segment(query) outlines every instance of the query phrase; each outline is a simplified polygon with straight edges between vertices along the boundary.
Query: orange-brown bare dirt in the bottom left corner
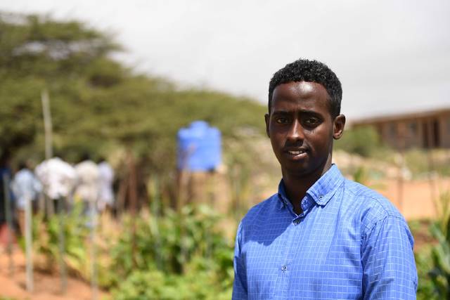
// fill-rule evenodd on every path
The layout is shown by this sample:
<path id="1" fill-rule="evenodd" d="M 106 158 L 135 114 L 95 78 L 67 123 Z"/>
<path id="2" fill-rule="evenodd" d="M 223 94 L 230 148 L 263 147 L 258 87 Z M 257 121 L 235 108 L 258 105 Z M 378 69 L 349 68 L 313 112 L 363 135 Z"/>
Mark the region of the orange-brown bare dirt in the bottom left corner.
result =
<path id="1" fill-rule="evenodd" d="M 60 279 L 58 274 L 34 272 L 34 291 L 27 292 L 25 285 L 25 256 L 15 247 L 13 250 L 14 271 L 10 273 L 9 259 L 6 252 L 0 249 L 0 296 L 12 299 L 35 300 L 91 300 L 91 287 L 89 283 L 79 279 L 69 278 L 68 289 L 65 294 L 60 293 Z M 107 296 L 99 293 L 98 299 Z"/>

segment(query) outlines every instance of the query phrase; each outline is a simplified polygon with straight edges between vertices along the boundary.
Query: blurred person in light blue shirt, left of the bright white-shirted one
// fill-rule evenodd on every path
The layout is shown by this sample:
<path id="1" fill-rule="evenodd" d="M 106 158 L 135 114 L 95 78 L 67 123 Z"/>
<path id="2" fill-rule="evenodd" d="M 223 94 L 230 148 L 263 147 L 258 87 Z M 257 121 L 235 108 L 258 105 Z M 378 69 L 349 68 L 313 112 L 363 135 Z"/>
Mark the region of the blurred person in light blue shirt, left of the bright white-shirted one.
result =
<path id="1" fill-rule="evenodd" d="M 27 162 L 20 162 L 19 171 L 14 175 L 11 182 L 11 188 L 15 196 L 15 208 L 18 213 L 18 222 L 20 231 L 23 234 L 25 231 L 25 205 L 27 201 L 31 201 L 32 210 L 36 209 L 36 203 L 39 194 L 42 191 L 42 185 L 30 170 L 30 164 Z"/>

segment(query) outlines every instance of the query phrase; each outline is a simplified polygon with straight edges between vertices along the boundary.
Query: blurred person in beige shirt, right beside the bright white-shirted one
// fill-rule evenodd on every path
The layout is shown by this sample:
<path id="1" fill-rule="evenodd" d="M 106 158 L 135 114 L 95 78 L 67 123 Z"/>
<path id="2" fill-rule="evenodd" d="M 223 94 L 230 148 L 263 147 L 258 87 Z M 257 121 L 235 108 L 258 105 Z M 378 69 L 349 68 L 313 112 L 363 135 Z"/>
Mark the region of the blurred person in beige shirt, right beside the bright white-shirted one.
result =
<path id="1" fill-rule="evenodd" d="M 98 166 L 93 162 L 88 153 L 82 155 L 81 161 L 75 165 L 77 173 L 77 185 L 75 197 L 82 200 L 84 214 L 94 216 L 98 200 Z"/>

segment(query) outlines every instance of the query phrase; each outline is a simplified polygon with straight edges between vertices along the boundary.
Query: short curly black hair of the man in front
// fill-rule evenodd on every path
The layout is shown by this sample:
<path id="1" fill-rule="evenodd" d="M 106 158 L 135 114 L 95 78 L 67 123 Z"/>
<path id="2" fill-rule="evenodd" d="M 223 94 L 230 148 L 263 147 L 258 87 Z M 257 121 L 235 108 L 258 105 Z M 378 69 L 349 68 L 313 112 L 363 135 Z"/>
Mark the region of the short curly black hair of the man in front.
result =
<path id="1" fill-rule="evenodd" d="M 336 74 L 324 63 L 317 60 L 300 58 L 278 70 L 269 84 L 269 112 L 274 90 L 280 84 L 288 82 L 307 81 L 321 84 L 330 96 L 330 115 L 335 118 L 340 114 L 342 100 L 342 86 Z"/>

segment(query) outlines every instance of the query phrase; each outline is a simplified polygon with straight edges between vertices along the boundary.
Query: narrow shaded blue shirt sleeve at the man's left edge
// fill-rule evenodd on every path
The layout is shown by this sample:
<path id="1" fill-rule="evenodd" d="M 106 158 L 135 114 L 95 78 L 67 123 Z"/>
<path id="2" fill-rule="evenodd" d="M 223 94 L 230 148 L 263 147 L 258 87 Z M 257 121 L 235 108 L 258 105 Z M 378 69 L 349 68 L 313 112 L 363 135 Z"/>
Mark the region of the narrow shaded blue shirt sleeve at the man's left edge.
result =
<path id="1" fill-rule="evenodd" d="M 247 273 L 245 271 L 245 263 L 243 262 L 241 253 L 242 240 L 242 223 L 239 224 L 236 233 L 236 242 L 234 246 L 234 282 L 233 282 L 233 300 L 248 299 L 247 294 Z"/>

